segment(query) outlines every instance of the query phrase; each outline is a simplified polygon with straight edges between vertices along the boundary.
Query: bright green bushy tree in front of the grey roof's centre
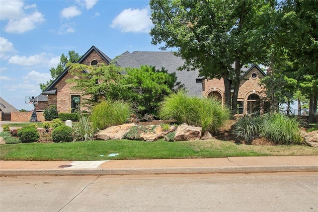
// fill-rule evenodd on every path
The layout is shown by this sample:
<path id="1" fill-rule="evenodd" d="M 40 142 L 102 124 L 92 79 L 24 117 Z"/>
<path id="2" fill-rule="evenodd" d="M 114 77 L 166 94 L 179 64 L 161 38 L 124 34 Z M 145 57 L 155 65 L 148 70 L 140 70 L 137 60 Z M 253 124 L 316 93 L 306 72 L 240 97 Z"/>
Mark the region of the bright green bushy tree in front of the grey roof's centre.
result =
<path id="1" fill-rule="evenodd" d="M 168 73 L 163 68 L 156 70 L 155 67 L 141 66 L 126 68 L 125 71 L 127 75 L 122 78 L 121 84 L 131 86 L 117 89 L 117 92 L 113 92 L 112 98 L 134 103 L 141 115 L 157 116 L 162 98 L 182 87 L 180 82 L 177 82 L 176 74 Z"/>

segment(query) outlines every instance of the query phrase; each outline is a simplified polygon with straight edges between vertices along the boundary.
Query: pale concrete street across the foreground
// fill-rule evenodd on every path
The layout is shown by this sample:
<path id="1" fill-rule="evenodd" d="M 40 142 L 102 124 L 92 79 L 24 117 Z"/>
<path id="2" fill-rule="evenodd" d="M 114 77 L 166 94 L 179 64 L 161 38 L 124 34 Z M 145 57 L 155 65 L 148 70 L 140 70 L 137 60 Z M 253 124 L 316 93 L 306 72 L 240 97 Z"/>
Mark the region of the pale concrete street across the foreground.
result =
<path id="1" fill-rule="evenodd" d="M 1 176 L 1 212 L 317 212 L 318 172 Z"/>

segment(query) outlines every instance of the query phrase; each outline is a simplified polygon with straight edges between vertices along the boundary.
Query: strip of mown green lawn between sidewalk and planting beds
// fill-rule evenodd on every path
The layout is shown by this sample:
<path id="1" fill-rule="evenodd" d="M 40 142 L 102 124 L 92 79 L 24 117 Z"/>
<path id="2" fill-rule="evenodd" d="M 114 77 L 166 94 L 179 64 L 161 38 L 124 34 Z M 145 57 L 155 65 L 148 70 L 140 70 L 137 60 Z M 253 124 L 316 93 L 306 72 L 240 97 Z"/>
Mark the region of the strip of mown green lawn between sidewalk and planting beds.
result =
<path id="1" fill-rule="evenodd" d="M 110 153 L 119 153 L 119 155 L 108 157 Z M 318 148 L 305 145 L 245 145 L 219 140 L 177 142 L 110 140 L 0 145 L 1 160 L 113 160 L 283 155 L 318 155 Z"/>

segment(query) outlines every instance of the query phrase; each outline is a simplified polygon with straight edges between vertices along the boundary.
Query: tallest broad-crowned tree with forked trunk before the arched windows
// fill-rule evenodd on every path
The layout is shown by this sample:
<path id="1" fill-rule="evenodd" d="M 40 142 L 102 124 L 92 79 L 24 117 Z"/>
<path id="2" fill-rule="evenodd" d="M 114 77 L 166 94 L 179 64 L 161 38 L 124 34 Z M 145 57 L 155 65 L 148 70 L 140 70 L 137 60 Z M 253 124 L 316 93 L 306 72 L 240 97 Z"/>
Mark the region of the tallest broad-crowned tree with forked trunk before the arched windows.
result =
<path id="1" fill-rule="evenodd" d="M 223 78 L 225 101 L 235 113 L 242 66 L 260 63 L 267 43 L 263 33 L 275 0 L 151 0 L 150 34 L 161 49 L 177 47 L 182 69 Z M 235 66 L 233 67 L 233 63 Z M 234 93 L 231 99 L 231 86 Z M 232 101 L 231 101 L 232 100 Z M 232 102 L 232 105 L 231 105 Z"/>

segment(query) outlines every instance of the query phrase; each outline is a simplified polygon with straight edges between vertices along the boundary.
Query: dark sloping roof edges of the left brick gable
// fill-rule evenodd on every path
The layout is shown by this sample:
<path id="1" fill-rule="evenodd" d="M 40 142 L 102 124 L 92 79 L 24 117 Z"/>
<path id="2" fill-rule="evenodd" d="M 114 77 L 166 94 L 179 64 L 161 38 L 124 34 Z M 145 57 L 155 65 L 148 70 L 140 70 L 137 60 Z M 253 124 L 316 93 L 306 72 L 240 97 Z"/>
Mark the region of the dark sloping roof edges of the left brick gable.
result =
<path id="1" fill-rule="evenodd" d="M 106 56 L 102 51 L 97 49 L 95 46 L 90 47 L 90 49 L 79 59 L 78 63 L 82 63 L 85 61 L 85 59 L 93 52 L 96 51 L 100 57 L 106 61 L 108 64 L 111 62 L 111 59 Z M 55 86 L 56 84 L 63 79 L 63 77 L 68 73 L 69 69 L 65 69 L 43 92 L 42 94 L 55 94 L 56 89 Z"/>

